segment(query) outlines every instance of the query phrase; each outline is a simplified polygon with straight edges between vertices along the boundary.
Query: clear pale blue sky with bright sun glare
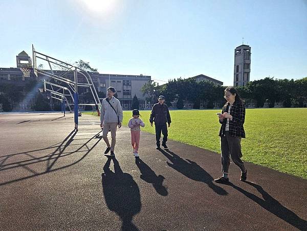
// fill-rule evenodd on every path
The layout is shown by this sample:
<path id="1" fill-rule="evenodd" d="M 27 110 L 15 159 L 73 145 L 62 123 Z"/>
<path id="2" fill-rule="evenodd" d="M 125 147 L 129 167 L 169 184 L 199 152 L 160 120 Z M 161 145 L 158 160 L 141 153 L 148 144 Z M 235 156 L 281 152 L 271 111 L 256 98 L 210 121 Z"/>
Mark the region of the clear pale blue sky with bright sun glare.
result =
<path id="1" fill-rule="evenodd" d="M 100 73 L 151 75 L 161 84 L 205 74 L 228 86 L 244 37 L 251 81 L 307 76 L 307 0 L 0 0 L 0 9 L 0 67 L 15 67 L 34 44 Z"/>

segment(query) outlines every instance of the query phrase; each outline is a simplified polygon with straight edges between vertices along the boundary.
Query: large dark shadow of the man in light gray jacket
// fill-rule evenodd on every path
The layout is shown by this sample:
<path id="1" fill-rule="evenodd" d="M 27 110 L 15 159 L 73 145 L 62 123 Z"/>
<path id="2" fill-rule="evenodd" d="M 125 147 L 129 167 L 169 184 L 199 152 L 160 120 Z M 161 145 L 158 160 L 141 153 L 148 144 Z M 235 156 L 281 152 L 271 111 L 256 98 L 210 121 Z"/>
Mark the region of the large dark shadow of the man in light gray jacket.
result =
<path id="1" fill-rule="evenodd" d="M 111 160 L 114 172 L 109 169 Z M 141 211 L 140 190 L 133 177 L 124 173 L 115 157 L 108 158 L 103 167 L 102 190 L 109 210 L 122 219 L 122 230 L 139 230 L 132 222 L 133 216 Z"/>

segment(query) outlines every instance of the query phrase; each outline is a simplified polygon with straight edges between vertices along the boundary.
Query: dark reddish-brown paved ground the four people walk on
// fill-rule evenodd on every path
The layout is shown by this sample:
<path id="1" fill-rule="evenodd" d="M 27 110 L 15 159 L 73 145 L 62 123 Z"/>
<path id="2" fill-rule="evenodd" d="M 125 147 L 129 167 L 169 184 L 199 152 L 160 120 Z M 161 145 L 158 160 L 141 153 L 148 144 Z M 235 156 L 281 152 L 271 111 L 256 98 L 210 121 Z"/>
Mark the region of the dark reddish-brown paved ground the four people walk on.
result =
<path id="1" fill-rule="evenodd" d="M 94 121 L 95 120 L 95 121 Z M 116 159 L 97 118 L 60 113 L 0 115 L 0 230 L 307 230 L 307 181 L 246 163 L 218 185 L 220 157 L 118 131 Z M 147 125 L 149 125 L 147 123 Z M 170 130 L 171 132 L 171 130 Z"/>

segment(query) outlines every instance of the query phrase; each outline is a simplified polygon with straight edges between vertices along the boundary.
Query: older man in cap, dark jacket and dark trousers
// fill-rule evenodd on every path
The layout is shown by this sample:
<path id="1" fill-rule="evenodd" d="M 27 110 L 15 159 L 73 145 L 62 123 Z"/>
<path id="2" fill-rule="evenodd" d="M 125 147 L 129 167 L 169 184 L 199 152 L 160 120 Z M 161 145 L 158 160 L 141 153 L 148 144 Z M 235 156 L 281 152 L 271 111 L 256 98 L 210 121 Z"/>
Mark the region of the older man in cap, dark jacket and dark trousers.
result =
<path id="1" fill-rule="evenodd" d="M 166 141 L 167 141 L 166 123 L 168 123 L 168 127 L 170 127 L 170 123 L 171 123 L 168 107 L 166 104 L 164 104 L 165 97 L 163 95 L 160 95 L 158 99 L 159 99 L 159 102 L 158 104 L 153 105 L 151 113 L 150 113 L 150 118 L 149 118 L 149 122 L 151 126 L 152 126 L 152 123 L 155 122 L 156 144 L 157 144 L 156 149 L 160 149 L 161 132 L 163 134 L 162 146 L 164 148 L 167 148 L 166 146 Z"/>

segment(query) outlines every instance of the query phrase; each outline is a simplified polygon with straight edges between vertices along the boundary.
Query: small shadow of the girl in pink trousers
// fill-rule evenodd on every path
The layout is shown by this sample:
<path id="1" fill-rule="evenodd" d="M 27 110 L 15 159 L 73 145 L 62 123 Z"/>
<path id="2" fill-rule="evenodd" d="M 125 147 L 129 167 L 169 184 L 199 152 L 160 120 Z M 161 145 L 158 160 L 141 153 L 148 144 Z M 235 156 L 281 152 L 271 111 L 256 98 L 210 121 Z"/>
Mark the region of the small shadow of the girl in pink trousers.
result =
<path id="1" fill-rule="evenodd" d="M 164 176 L 158 175 L 140 158 L 136 158 L 136 165 L 141 171 L 141 179 L 143 181 L 152 184 L 153 188 L 162 196 L 167 196 L 167 189 L 163 186 Z"/>

